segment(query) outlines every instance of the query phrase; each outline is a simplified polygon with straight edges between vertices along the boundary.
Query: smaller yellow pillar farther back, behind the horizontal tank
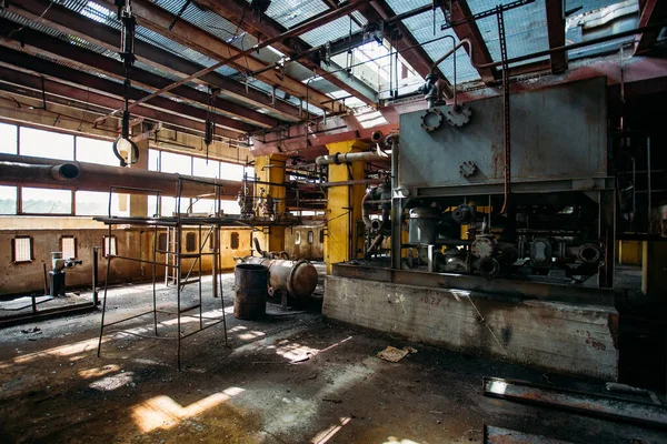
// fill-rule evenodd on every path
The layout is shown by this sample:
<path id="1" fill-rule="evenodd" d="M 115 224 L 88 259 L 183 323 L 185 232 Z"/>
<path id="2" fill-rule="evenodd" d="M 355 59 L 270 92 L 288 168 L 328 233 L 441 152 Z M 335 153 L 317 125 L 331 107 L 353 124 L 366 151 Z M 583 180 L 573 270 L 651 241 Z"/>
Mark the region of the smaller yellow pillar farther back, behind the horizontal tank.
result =
<path id="1" fill-rule="evenodd" d="M 257 175 L 260 183 L 257 184 L 256 195 L 260 195 L 260 189 L 265 189 L 265 198 L 270 195 L 277 202 L 276 204 L 276 219 L 282 218 L 286 211 L 285 206 L 285 162 L 287 161 L 286 155 L 281 154 L 268 154 L 259 155 L 255 158 L 255 175 Z M 263 233 L 256 233 L 256 238 L 259 239 L 259 243 L 266 251 L 282 251 L 285 250 L 285 228 L 271 226 L 265 229 Z"/>

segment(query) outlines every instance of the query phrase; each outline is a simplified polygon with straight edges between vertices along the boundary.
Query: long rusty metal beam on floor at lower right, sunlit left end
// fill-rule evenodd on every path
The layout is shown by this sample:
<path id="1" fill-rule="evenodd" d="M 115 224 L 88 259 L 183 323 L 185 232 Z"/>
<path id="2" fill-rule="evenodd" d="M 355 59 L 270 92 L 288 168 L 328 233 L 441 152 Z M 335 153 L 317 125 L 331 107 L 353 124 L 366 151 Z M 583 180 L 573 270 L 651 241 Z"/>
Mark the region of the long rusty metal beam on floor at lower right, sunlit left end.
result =
<path id="1" fill-rule="evenodd" d="M 485 396 L 546 405 L 654 427 L 667 427 L 667 408 L 661 405 L 500 377 L 482 377 L 482 389 Z"/>

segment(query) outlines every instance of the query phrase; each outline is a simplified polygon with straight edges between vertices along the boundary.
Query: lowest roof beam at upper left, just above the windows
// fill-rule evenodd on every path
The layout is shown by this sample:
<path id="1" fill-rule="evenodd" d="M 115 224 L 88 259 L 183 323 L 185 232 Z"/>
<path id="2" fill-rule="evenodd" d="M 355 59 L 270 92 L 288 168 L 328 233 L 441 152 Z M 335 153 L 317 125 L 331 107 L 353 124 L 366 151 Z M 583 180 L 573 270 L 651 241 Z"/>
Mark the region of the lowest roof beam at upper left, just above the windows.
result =
<path id="1" fill-rule="evenodd" d="M 6 59 L 3 59 L 6 60 Z M 47 62 L 49 63 L 49 62 Z M 60 67 L 63 70 L 69 70 L 68 68 L 64 67 Z M 88 79 L 88 77 L 94 77 L 94 75 L 90 75 L 90 74 L 84 74 L 81 73 L 79 71 L 76 70 L 71 70 L 74 73 L 78 74 L 83 74 L 81 78 L 79 78 L 79 80 L 83 80 L 83 81 L 90 81 L 90 79 Z M 67 104 L 68 102 L 72 102 L 72 101 L 77 101 L 77 102 L 81 102 L 81 103 L 91 103 L 94 104 L 97 107 L 101 107 L 101 108 L 106 108 L 106 109 L 115 109 L 116 107 L 122 107 L 123 104 L 123 100 L 119 97 L 113 97 L 113 95 L 107 95 L 100 92 L 96 92 L 96 91 L 91 91 L 91 90 L 86 90 L 86 89 L 80 89 L 77 88 L 76 84 L 77 83 L 61 83 L 59 81 L 54 81 L 51 79 L 43 79 L 39 75 L 33 75 L 30 74 L 26 71 L 19 71 L 19 70 L 14 70 L 14 69 L 10 69 L 10 68 L 6 68 L 6 67 L 0 67 L 0 79 L 2 79 L 2 82 L 0 83 L 0 89 L 4 90 L 4 91 L 9 91 L 9 92 L 14 92 L 14 93 L 20 93 L 27 97 L 40 97 L 39 94 L 41 94 L 42 92 L 44 94 L 53 94 L 53 95 L 58 95 L 62 99 L 64 99 L 63 104 Z M 43 83 L 42 83 L 43 80 Z M 94 88 L 96 90 L 98 88 L 101 88 L 102 84 L 104 83 L 115 83 L 111 81 L 104 81 L 103 79 L 99 79 L 101 82 L 99 84 L 96 84 Z M 81 83 L 78 83 L 81 84 Z M 122 90 L 122 84 L 119 83 L 115 83 L 119 89 Z M 20 87 L 19 89 L 17 89 L 14 85 Z M 104 84 L 106 87 L 110 87 L 110 84 Z M 42 89 L 43 87 L 43 89 Z M 23 88 L 30 89 L 32 90 L 32 93 L 30 91 L 26 91 L 23 90 Z M 117 91 L 113 91 L 117 92 Z M 163 99 L 163 100 L 169 100 L 169 99 Z M 62 102 L 62 101 L 61 101 Z M 173 102 L 176 104 L 178 104 L 177 102 Z M 77 108 L 77 107 L 74 107 Z M 188 108 L 192 108 L 192 107 L 188 107 Z M 137 115 L 137 117 L 142 117 L 149 120 L 152 120 L 155 122 L 165 122 L 165 123 L 169 123 L 169 124 L 173 124 L 177 127 L 181 127 L 181 128 L 186 128 L 186 129 L 192 129 L 192 130 L 197 130 L 200 132 L 205 131 L 205 123 L 201 120 L 193 120 L 190 118 L 186 118 L 185 115 L 188 114 L 181 114 L 181 113 L 175 113 L 175 111 L 179 110 L 178 108 L 173 108 L 170 109 L 170 111 L 172 112 L 165 112 L 160 109 L 155 109 L 155 108 L 150 108 L 150 107 L 137 107 L 135 108 L 135 110 L 132 110 L 132 114 Z M 205 112 L 205 110 L 201 110 Z M 230 131 L 227 129 L 223 129 L 221 127 L 217 128 L 217 132 L 218 135 L 222 135 L 226 138 L 231 138 L 231 139 L 237 139 L 240 134 L 239 132 L 235 132 L 235 131 Z"/>

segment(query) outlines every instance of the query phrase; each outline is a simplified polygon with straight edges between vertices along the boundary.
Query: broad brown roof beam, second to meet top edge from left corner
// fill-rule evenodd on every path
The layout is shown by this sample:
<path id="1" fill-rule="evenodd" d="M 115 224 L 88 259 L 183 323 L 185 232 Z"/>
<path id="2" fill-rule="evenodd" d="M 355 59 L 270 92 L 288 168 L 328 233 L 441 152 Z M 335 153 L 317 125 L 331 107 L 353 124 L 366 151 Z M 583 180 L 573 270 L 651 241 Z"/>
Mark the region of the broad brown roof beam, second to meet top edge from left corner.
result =
<path id="1" fill-rule="evenodd" d="M 112 0 L 92 0 L 98 4 L 101 4 L 108 9 L 113 10 L 115 4 Z M 241 51 L 233 44 L 229 44 L 218 37 L 207 32 L 193 24 L 190 24 L 183 19 L 176 20 L 177 17 L 171 12 L 158 7 L 146 0 L 132 0 L 132 14 L 137 18 L 138 24 L 148 28 L 159 34 L 176 41 L 185 47 L 192 48 L 195 51 L 210 57 L 217 61 L 223 61 L 231 57 L 237 56 Z M 171 23 L 175 23 L 170 28 Z M 232 68 L 238 71 L 259 71 L 269 65 L 263 61 L 256 59 L 252 56 L 246 56 L 242 60 L 230 63 Z M 306 98 L 306 85 L 289 75 L 278 77 L 278 72 L 269 71 L 257 75 L 261 81 L 276 85 L 281 90 L 290 93 L 297 98 Z M 310 91 L 309 97 L 312 99 L 311 104 L 317 105 L 328 111 L 335 111 L 335 103 L 328 102 L 329 97 L 319 92 Z M 321 102 L 328 102 L 320 104 Z"/>

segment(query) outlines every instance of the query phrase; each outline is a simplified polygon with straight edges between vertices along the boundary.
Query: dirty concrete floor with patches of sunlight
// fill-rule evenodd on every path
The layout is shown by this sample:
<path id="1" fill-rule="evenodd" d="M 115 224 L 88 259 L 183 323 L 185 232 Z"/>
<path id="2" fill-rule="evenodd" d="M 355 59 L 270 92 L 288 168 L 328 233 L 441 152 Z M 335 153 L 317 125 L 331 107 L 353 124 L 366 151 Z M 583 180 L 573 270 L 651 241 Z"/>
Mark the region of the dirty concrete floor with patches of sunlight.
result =
<path id="1" fill-rule="evenodd" d="M 229 347 L 221 325 L 191 336 L 180 373 L 171 341 L 110 334 L 98 359 L 99 313 L 2 330 L 0 442 L 470 443 L 481 441 L 482 424 L 571 443 L 667 442 L 664 432 L 481 395 L 484 375 L 600 383 L 406 344 L 317 312 L 269 305 L 276 315 L 236 320 L 232 282 L 223 276 Z M 149 285 L 115 289 L 110 316 L 146 310 L 151 294 Z M 160 290 L 158 301 L 173 305 L 172 291 Z M 207 296 L 205 307 L 219 313 L 220 301 Z M 418 353 L 388 363 L 376 356 L 387 345 Z"/>

